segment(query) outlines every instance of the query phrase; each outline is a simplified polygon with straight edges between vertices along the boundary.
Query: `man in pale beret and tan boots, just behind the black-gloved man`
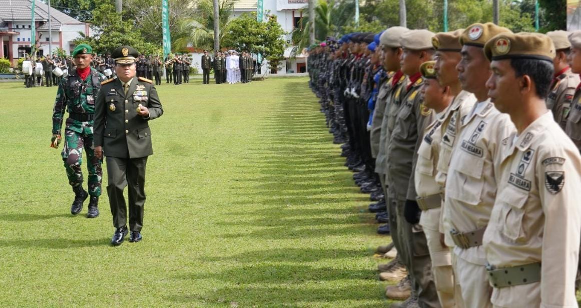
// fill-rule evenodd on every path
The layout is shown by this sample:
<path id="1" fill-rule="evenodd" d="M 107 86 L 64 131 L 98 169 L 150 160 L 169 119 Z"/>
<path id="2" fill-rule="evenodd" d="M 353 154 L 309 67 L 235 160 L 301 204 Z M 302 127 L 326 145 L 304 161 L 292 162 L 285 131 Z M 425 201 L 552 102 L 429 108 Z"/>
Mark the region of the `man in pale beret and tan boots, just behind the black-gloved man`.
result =
<path id="1" fill-rule="evenodd" d="M 401 95 L 401 91 L 406 88 L 407 84 L 407 77 L 401 71 L 400 65 L 400 56 L 403 53 L 403 49 L 401 48 L 401 34 L 405 33 L 409 29 L 406 27 L 391 27 L 385 30 L 379 37 L 379 46 L 382 48 L 383 51 L 383 68 L 386 71 L 392 71 L 393 76 L 383 83 L 381 87 L 379 87 L 379 92 L 377 96 L 377 102 L 375 107 L 375 112 L 379 113 L 380 116 L 383 114 L 383 120 L 381 120 L 381 129 L 379 132 L 375 131 L 375 134 L 379 133 L 379 147 L 377 152 L 377 157 L 375 159 L 375 172 L 379 174 L 379 179 L 381 181 L 381 185 L 385 194 L 385 203 L 381 205 L 380 203 L 376 203 L 375 205 L 370 205 L 371 211 L 378 211 L 385 209 L 388 213 L 389 223 L 385 225 L 381 225 L 378 228 L 378 233 L 388 233 L 391 232 L 392 234 L 397 234 L 397 230 L 399 226 L 397 225 L 397 214 L 396 214 L 396 206 L 397 202 L 394 198 L 394 194 L 389 192 L 388 190 L 388 179 L 386 175 L 388 173 L 387 169 L 387 149 L 388 149 L 388 142 L 391 136 L 391 132 L 393 131 L 393 127 L 395 124 L 395 116 L 397 114 L 397 109 L 399 109 L 400 102 L 399 98 Z M 343 44 L 346 45 L 346 44 Z M 383 105 L 383 110 L 382 106 Z M 374 113 L 375 117 L 375 113 Z M 374 121 L 378 119 L 375 117 Z M 372 128 L 372 132 L 370 137 L 374 134 L 374 129 Z M 397 252 L 403 251 L 402 245 L 403 243 L 400 242 L 399 238 L 396 236 L 392 236 L 392 241 L 394 244 L 395 249 Z M 390 291 L 394 293 L 399 293 L 399 296 L 394 296 L 397 298 L 406 299 L 410 296 L 411 293 L 411 284 L 410 280 L 407 277 L 408 272 L 406 267 L 403 264 L 402 256 L 398 255 L 392 262 L 388 264 L 379 264 L 378 270 L 381 272 L 379 277 L 382 280 L 392 280 L 392 281 L 400 281 L 399 285 L 397 285 L 397 289 Z M 388 289 L 390 287 L 388 286 Z M 386 289 L 387 292 L 387 289 Z M 397 294 L 392 294 L 397 295 Z"/>

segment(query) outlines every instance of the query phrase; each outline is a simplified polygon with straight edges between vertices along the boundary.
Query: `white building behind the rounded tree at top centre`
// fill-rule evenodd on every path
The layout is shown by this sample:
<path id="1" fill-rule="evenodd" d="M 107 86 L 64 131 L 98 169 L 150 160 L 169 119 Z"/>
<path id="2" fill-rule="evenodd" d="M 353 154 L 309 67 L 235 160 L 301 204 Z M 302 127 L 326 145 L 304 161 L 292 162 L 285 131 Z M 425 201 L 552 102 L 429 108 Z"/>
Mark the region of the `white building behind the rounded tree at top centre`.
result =
<path id="1" fill-rule="evenodd" d="M 270 71 L 271 74 L 304 73 L 306 71 L 306 58 L 303 54 L 297 55 L 295 59 L 290 58 L 292 51 L 292 41 L 290 33 L 299 26 L 299 20 L 303 17 L 302 9 L 306 8 L 308 0 L 263 0 L 264 13 L 276 15 L 277 22 L 282 30 L 288 33 L 285 37 L 287 47 L 285 49 L 285 60 L 281 63 L 281 69 Z M 256 12 L 257 0 L 238 0 L 234 4 L 234 17 L 244 13 Z M 270 12 L 269 12 L 270 11 Z M 262 72 L 268 70 L 268 62 L 264 61 Z"/>

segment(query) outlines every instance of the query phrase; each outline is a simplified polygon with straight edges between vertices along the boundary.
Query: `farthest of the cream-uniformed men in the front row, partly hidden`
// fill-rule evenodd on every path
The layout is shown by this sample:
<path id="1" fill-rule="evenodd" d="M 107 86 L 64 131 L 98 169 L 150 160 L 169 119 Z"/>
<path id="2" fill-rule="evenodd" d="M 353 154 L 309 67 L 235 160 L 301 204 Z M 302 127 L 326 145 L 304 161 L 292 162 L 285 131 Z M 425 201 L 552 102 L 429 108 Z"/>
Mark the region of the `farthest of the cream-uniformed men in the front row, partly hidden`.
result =
<path id="1" fill-rule="evenodd" d="M 454 34 L 439 33 L 440 41 L 446 44 L 445 38 L 453 38 Z M 449 35 L 449 36 L 448 36 Z M 451 40 L 454 42 L 454 40 Z M 458 40 L 453 44 L 457 47 Z M 436 182 L 437 161 L 442 139 L 442 121 L 448 106 L 454 99 L 449 86 L 442 87 L 436 80 L 435 61 L 424 62 L 420 67 L 424 85 L 421 94 L 424 97 L 424 106 L 435 112 L 432 123 L 428 124 L 421 134 L 421 145 L 418 149 L 418 160 L 415 165 L 415 190 L 418 194 L 417 202 L 422 214 L 419 225 L 422 226 L 432 260 L 432 275 L 436 284 L 436 291 L 442 307 L 455 307 L 454 278 L 450 249 L 440 243 L 440 211 L 442 199 L 440 186 Z"/>

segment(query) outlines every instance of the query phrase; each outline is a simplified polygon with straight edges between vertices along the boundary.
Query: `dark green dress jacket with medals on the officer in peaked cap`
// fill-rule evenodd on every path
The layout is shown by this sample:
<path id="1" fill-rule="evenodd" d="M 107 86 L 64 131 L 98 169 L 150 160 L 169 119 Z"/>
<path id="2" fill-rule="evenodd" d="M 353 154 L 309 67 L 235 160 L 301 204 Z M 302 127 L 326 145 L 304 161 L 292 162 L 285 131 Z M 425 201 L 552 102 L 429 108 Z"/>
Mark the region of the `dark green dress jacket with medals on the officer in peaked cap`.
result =
<path id="1" fill-rule="evenodd" d="M 139 104 L 149 109 L 147 119 L 137 114 Z M 127 96 L 119 79 L 103 81 L 96 100 L 95 146 L 103 146 L 103 153 L 111 157 L 152 155 L 148 122 L 162 114 L 162 103 L 150 80 L 134 77 Z"/>

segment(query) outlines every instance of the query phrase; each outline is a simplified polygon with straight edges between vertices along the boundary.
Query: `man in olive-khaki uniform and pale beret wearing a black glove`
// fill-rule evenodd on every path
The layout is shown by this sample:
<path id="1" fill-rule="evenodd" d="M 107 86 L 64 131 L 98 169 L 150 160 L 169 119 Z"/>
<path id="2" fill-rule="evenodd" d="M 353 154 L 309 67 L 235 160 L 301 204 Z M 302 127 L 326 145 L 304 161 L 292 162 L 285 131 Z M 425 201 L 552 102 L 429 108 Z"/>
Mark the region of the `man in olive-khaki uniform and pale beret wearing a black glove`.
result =
<path id="1" fill-rule="evenodd" d="M 397 237 L 401 250 L 397 253 L 406 265 L 411 278 L 411 296 L 401 306 L 417 305 L 437 307 L 436 288 L 430 273 L 431 259 L 426 237 L 419 223 L 419 207 L 414 184 L 414 168 L 422 138 L 419 136 L 432 120 L 419 88 L 422 85 L 419 66 L 433 55 L 432 38 L 428 30 L 410 30 L 401 34 L 401 71 L 409 79 L 401 89 L 400 106 L 389 142 L 387 144 L 387 185 L 390 198 L 396 202 Z M 389 289 L 386 292 L 388 295 Z M 389 295 L 388 295 L 389 297 Z"/>

